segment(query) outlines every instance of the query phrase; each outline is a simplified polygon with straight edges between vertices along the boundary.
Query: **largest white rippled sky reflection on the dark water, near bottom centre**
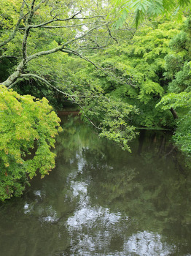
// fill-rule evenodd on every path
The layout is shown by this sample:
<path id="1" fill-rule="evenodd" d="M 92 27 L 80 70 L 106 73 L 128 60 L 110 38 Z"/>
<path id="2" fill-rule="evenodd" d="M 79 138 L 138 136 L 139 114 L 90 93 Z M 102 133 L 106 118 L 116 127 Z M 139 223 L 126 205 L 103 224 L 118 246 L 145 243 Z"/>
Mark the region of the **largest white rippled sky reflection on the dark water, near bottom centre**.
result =
<path id="1" fill-rule="evenodd" d="M 95 255 L 111 243 L 112 234 L 120 220 L 120 213 L 114 214 L 109 208 L 90 206 L 85 182 L 72 182 L 74 197 L 79 196 L 79 206 L 66 225 L 71 236 L 71 252 L 76 255 Z"/>

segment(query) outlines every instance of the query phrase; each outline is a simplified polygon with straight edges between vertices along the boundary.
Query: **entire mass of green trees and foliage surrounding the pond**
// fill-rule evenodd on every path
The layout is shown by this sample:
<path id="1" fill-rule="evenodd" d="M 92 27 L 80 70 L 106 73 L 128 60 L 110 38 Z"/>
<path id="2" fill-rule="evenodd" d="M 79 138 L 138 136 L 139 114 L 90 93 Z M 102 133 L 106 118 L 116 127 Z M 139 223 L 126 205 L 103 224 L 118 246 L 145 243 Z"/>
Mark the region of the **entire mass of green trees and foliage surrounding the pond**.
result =
<path id="1" fill-rule="evenodd" d="M 0 200 L 55 167 L 66 102 L 130 151 L 172 129 L 191 155 L 190 1 L 1 0 Z"/>

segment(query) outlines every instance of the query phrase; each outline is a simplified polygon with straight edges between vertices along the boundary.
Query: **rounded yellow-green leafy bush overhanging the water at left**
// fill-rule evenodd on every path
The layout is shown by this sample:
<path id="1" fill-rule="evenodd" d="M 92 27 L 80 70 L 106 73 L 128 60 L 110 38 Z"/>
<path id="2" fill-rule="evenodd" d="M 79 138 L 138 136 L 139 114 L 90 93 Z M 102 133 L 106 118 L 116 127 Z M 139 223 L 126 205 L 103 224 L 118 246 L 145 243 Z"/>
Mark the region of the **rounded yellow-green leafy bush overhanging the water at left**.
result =
<path id="1" fill-rule="evenodd" d="M 47 99 L 20 96 L 0 87 L 0 198 L 20 195 L 36 170 L 44 177 L 55 167 L 59 118 Z"/>

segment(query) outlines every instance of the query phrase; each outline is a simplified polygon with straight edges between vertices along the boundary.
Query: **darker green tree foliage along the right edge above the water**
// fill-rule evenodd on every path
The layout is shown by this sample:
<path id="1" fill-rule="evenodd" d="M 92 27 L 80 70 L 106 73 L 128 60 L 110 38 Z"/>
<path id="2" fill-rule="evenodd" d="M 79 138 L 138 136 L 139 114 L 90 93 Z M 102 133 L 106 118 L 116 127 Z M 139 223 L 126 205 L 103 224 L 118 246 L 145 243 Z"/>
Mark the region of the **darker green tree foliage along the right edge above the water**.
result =
<path id="1" fill-rule="evenodd" d="M 171 40 L 171 52 L 165 57 L 165 78 L 169 80 L 168 94 L 158 106 L 174 108 L 179 113 L 174 140 L 179 148 L 191 153 L 191 20 L 187 18 L 182 31 Z"/>

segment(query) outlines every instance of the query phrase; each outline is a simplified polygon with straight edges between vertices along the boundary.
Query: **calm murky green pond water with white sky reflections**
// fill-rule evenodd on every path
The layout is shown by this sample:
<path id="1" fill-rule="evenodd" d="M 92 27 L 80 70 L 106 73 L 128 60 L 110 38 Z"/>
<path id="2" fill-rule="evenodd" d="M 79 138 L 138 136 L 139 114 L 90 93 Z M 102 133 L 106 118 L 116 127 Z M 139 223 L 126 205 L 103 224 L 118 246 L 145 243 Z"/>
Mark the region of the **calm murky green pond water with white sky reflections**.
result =
<path id="1" fill-rule="evenodd" d="M 129 154 L 63 120 L 55 169 L 0 205 L 0 255 L 191 255 L 191 170 L 170 140 L 142 131 Z"/>

